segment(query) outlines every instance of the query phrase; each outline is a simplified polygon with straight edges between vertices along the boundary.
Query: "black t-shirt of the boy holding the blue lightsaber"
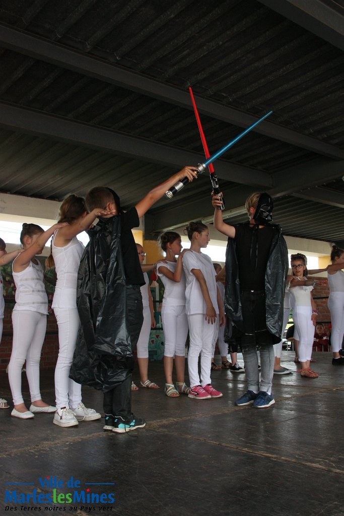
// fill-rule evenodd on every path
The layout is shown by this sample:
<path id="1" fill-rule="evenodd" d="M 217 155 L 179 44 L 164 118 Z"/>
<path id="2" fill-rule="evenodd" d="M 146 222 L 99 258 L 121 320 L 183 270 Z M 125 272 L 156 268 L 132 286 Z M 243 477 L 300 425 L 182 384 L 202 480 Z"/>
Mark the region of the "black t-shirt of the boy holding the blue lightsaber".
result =
<path id="1" fill-rule="evenodd" d="M 139 225 L 140 219 L 135 207 L 121 213 L 121 246 L 127 285 L 144 285 L 143 272 L 132 233 L 132 228 L 137 228 Z"/>

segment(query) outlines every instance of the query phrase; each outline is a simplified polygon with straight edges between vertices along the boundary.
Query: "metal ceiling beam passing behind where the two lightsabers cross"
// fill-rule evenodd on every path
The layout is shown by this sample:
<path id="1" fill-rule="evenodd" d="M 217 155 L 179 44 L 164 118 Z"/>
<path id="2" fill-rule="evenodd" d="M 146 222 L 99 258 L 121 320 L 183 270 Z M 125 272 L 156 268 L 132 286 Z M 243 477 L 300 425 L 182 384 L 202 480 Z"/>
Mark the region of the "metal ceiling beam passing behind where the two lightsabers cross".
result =
<path id="1" fill-rule="evenodd" d="M 0 102 L 0 127 L 163 166 L 181 168 L 184 165 L 197 165 L 204 161 L 204 155 L 196 152 L 5 102 Z M 247 185 L 260 185 L 264 188 L 272 186 L 271 176 L 266 172 L 220 159 L 216 163 L 216 172 L 221 179 Z"/>

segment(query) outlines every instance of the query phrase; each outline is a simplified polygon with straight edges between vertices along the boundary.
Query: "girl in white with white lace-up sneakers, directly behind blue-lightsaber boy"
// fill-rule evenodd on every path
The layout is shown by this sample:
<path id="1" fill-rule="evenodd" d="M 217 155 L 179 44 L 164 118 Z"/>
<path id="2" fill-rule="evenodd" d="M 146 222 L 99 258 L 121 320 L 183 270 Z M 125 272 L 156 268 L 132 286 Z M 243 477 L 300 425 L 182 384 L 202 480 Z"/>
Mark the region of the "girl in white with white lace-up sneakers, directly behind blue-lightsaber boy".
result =
<path id="1" fill-rule="evenodd" d="M 70 195 L 59 209 L 59 222 L 68 223 L 55 231 L 52 253 L 46 260 L 47 267 L 54 267 L 57 275 L 52 308 L 58 326 L 59 354 L 55 368 L 55 396 L 57 411 L 53 423 L 62 428 L 76 426 L 78 421 L 93 421 L 101 417 L 94 409 L 88 409 L 81 401 L 81 385 L 69 378 L 79 316 L 76 308 L 77 273 L 84 245 L 76 235 L 85 231 L 95 218 L 108 214 L 95 208 L 87 213 L 83 197 Z"/>

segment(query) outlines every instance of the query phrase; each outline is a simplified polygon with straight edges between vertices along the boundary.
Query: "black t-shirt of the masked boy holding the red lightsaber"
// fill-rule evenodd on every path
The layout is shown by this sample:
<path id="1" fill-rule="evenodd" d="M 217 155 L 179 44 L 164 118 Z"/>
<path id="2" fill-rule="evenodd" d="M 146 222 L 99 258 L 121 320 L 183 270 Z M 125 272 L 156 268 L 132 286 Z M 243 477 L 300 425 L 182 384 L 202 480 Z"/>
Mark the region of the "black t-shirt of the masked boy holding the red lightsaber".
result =
<path id="1" fill-rule="evenodd" d="M 276 229 L 267 224 L 259 229 L 235 225 L 236 255 L 241 290 L 265 290 L 265 272 Z"/>

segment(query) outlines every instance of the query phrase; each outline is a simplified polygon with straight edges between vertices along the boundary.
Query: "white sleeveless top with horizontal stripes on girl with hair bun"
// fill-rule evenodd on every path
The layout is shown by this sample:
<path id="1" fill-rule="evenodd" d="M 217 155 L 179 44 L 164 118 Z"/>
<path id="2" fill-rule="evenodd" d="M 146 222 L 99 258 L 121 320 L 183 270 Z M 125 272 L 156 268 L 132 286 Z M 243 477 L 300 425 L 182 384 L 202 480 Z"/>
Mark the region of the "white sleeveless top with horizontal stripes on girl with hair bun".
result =
<path id="1" fill-rule="evenodd" d="M 38 262 L 29 265 L 22 272 L 14 272 L 12 263 L 12 276 L 15 283 L 15 305 L 13 310 L 29 310 L 30 312 L 48 313 L 48 297 L 43 283 L 43 269 Z"/>

